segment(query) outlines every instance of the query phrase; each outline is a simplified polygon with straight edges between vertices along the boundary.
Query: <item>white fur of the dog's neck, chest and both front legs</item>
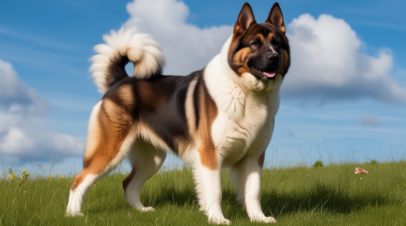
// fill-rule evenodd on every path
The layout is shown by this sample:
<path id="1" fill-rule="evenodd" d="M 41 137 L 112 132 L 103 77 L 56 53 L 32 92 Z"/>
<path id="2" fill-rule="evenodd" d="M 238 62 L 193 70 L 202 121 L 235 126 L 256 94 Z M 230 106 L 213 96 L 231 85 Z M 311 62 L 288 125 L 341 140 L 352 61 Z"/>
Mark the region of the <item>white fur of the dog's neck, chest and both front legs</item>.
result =
<path id="1" fill-rule="evenodd" d="M 272 136 L 282 75 L 276 74 L 272 81 L 261 81 L 249 73 L 238 76 L 227 62 L 230 43 L 231 37 L 220 54 L 207 64 L 204 73 L 209 94 L 218 107 L 218 116 L 212 125 L 212 139 L 219 168 L 231 166 L 238 198 L 251 221 L 276 222 L 273 217 L 266 217 L 261 209 L 262 167 L 258 159 Z M 199 203 L 213 222 L 224 222 L 217 202 L 221 198 L 219 173 L 206 171 L 196 166 L 194 169 L 198 194 L 199 191 L 203 193 L 199 199 L 204 199 Z M 208 203 L 214 208 L 210 209 Z"/>

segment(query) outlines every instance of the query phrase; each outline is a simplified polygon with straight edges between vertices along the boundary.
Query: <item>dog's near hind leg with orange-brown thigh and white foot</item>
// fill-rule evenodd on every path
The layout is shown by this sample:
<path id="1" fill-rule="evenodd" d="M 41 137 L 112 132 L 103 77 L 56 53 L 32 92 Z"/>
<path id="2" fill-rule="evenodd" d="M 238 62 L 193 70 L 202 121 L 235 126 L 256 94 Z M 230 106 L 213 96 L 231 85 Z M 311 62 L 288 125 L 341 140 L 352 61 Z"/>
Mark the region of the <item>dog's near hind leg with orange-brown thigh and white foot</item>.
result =
<path id="1" fill-rule="evenodd" d="M 133 124 L 125 109 L 110 100 L 103 100 L 93 108 L 83 170 L 73 178 L 66 215 L 82 215 L 80 209 L 89 189 L 127 156 L 135 139 Z"/>

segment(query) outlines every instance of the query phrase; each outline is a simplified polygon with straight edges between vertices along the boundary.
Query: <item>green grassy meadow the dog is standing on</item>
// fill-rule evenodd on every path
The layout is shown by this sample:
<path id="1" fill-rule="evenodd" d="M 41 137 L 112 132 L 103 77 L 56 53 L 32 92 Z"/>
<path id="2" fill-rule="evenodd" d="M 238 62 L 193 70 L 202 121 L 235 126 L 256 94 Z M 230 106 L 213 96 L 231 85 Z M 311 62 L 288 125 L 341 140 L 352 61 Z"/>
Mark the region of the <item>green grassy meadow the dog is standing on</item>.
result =
<path id="1" fill-rule="evenodd" d="M 356 166 L 369 174 L 360 180 Z M 262 209 L 277 225 L 406 225 L 405 175 L 405 161 L 264 169 Z M 125 176 L 115 173 L 93 186 L 83 217 L 65 217 L 71 178 L 31 175 L 24 182 L 24 176 L 3 176 L 0 225 L 208 225 L 189 168 L 162 170 L 147 181 L 141 200 L 155 212 L 127 205 L 121 186 Z M 227 170 L 222 192 L 222 210 L 233 225 L 266 225 L 251 223 L 237 205 Z"/>

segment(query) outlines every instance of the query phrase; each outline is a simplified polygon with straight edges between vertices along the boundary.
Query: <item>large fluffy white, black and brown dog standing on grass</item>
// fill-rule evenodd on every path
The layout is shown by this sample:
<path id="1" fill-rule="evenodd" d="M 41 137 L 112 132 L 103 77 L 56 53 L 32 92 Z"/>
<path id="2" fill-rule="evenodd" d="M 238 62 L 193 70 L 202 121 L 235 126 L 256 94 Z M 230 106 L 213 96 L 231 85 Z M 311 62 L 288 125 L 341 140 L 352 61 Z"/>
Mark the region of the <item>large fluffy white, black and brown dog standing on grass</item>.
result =
<path id="1" fill-rule="evenodd" d="M 282 11 L 272 6 L 257 23 L 245 3 L 233 34 L 205 68 L 188 76 L 162 75 L 160 45 L 147 34 L 120 29 L 95 46 L 90 68 L 104 93 L 89 120 L 83 171 L 69 194 L 67 215 L 79 215 L 86 192 L 126 156 L 127 202 L 141 211 L 140 190 L 161 167 L 166 151 L 193 169 L 201 210 L 229 224 L 221 211 L 221 168 L 230 167 L 238 199 L 252 221 L 275 222 L 261 209 L 261 171 L 289 68 Z M 131 77 L 124 66 L 134 63 Z"/>

